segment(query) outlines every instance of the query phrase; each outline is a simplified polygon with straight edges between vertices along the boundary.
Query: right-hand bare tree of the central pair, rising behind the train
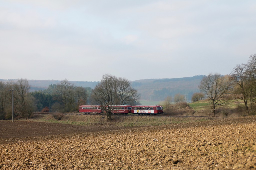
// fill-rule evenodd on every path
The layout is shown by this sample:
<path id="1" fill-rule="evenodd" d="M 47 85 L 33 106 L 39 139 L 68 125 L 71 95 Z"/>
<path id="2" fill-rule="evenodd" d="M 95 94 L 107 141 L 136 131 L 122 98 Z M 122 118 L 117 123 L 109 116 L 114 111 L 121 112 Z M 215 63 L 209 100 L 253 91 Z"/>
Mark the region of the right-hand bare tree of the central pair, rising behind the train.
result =
<path id="1" fill-rule="evenodd" d="M 115 95 L 116 95 L 115 103 L 117 105 L 124 105 L 124 104 L 133 105 L 136 102 L 136 100 L 140 98 L 138 95 L 138 91 L 131 86 L 131 82 L 121 77 L 117 79 Z"/>

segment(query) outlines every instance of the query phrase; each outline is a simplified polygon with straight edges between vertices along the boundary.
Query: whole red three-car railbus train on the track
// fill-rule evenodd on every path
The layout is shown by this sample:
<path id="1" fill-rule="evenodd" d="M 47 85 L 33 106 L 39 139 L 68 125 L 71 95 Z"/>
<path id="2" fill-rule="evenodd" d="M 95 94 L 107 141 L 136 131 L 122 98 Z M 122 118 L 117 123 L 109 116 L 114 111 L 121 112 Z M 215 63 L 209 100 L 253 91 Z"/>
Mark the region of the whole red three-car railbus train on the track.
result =
<path id="1" fill-rule="evenodd" d="M 147 114 L 147 115 L 154 115 L 154 114 L 163 114 L 163 106 L 155 105 L 155 106 L 131 106 L 131 105 L 115 105 L 113 106 L 113 114 Z M 103 113 L 103 110 L 100 105 L 82 105 L 79 107 L 80 113 Z"/>

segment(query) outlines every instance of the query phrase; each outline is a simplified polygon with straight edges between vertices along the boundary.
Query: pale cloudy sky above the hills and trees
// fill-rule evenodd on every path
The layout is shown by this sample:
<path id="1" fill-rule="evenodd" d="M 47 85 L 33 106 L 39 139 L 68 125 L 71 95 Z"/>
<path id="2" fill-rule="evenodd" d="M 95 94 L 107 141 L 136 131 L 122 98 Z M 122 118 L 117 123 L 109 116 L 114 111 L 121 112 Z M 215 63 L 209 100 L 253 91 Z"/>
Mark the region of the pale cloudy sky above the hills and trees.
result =
<path id="1" fill-rule="evenodd" d="M 1 0 L 0 79 L 230 74 L 256 53 L 255 0 Z"/>

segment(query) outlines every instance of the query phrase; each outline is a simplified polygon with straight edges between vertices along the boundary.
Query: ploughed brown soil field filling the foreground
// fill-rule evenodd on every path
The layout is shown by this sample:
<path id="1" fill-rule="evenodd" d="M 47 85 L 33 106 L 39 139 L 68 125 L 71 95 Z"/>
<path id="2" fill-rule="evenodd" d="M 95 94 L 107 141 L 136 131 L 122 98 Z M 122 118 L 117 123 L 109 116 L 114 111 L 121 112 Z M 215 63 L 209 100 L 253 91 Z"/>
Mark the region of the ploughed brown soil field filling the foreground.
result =
<path id="1" fill-rule="evenodd" d="M 255 116 L 137 128 L 0 121 L 0 169 L 255 169 L 255 127 Z"/>

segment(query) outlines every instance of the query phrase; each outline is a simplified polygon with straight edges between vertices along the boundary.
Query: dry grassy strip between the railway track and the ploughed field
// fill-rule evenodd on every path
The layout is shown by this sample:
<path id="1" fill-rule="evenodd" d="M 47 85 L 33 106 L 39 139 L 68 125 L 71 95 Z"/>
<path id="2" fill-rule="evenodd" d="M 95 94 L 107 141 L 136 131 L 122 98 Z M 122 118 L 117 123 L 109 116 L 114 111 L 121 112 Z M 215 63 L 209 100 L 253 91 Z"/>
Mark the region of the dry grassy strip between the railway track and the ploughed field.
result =
<path id="1" fill-rule="evenodd" d="M 56 120 L 52 115 L 38 115 L 33 117 L 31 121 L 38 122 L 51 122 L 51 123 L 65 123 L 73 125 L 113 125 L 113 126 L 155 126 L 155 125 L 168 125 L 174 123 L 186 123 L 206 121 L 218 118 L 202 118 L 202 117 L 169 117 L 169 116 L 112 116 L 113 121 L 109 121 L 106 115 L 65 115 L 61 120 Z"/>

